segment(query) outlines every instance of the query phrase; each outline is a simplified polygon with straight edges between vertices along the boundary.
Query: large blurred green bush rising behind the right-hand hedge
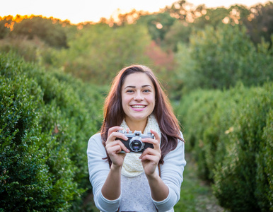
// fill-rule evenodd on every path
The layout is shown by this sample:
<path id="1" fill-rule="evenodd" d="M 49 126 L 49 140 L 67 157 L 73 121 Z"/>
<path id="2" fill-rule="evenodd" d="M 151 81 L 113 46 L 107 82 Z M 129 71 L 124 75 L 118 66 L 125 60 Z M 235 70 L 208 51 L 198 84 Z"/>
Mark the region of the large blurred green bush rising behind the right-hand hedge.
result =
<path id="1" fill-rule="evenodd" d="M 225 89 L 242 81 L 245 86 L 261 86 L 273 79 L 272 51 L 268 42 L 258 49 L 243 26 L 218 25 L 192 33 L 190 45 L 179 45 L 178 79 L 184 93 L 196 88 Z"/>

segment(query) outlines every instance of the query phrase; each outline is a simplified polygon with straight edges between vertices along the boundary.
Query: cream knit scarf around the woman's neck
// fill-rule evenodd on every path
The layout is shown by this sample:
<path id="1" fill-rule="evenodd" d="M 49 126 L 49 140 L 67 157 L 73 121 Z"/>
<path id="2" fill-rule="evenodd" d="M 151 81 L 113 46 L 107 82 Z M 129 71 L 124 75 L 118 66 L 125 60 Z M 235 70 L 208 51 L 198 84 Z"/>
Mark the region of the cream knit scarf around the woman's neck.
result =
<path id="1" fill-rule="evenodd" d="M 122 126 L 124 129 L 129 128 L 125 120 L 122 121 L 122 124 L 120 124 L 120 126 Z M 151 132 L 151 129 L 153 129 L 153 131 L 156 131 L 161 137 L 161 131 L 159 129 L 158 122 L 156 121 L 156 117 L 154 117 L 153 114 L 149 115 L 148 117 L 147 124 L 144 129 L 144 134 Z M 126 177 L 136 177 L 144 172 L 141 160 L 139 159 L 140 155 L 141 153 L 127 153 L 122 165 L 122 175 Z"/>

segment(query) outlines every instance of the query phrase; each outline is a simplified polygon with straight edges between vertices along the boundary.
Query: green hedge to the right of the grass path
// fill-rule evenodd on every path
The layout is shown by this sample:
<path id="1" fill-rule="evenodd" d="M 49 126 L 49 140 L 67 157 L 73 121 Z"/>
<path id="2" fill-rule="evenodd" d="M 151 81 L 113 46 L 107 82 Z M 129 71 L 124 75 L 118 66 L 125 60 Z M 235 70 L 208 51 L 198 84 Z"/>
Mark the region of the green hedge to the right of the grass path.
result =
<path id="1" fill-rule="evenodd" d="M 177 113 L 199 175 L 214 182 L 231 211 L 272 208 L 273 83 L 231 90 L 196 90 Z"/>

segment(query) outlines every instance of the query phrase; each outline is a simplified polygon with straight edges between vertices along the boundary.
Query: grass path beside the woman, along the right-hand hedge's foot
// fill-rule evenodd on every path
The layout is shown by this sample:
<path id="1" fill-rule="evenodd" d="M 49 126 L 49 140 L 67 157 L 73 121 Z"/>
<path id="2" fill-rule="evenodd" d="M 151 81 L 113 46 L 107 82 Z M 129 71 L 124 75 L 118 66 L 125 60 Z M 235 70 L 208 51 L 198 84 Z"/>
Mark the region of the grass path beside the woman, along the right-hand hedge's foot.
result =
<path id="1" fill-rule="evenodd" d="M 217 199 L 212 194 L 211 187 L 197 177 L 197 164 L 192 155 L 185 156 L 187 165 L 184 170 L 184 181 L 182 182 L 180 201 L 175 205 L 175 212 L 194 211 L 226 211 L 219 206 Z"/>

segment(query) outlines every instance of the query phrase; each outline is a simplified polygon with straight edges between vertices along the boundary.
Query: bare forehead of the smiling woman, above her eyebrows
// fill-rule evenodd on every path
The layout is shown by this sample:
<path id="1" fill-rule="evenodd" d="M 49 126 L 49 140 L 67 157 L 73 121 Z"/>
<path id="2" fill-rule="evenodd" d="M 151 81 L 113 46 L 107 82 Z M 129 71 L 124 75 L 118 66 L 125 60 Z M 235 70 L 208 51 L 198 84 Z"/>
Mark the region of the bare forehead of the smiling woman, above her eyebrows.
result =
<path id="1" fill-rule="evenodd" d="M 131 73 L 124 79 L 122 88 L 126 86 L 152 86 L 153 82 L 146 73 Z"/>

